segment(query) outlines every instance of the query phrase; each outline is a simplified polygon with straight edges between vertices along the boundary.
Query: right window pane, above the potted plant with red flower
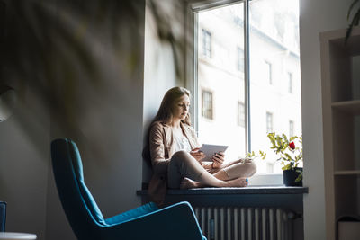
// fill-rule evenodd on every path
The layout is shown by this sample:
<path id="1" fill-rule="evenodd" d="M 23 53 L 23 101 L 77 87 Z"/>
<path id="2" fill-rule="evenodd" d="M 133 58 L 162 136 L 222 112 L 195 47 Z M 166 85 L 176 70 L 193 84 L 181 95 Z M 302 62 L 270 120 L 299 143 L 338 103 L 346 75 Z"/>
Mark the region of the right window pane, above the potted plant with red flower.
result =
<path id="1" fill-rule="evenodd" d="M 249 5 L 251 150 L 267 152 L 257 173 L 282 173 L 266 132 L 302 135 L 298 5 L 298 0 L 254 0 Z"/>

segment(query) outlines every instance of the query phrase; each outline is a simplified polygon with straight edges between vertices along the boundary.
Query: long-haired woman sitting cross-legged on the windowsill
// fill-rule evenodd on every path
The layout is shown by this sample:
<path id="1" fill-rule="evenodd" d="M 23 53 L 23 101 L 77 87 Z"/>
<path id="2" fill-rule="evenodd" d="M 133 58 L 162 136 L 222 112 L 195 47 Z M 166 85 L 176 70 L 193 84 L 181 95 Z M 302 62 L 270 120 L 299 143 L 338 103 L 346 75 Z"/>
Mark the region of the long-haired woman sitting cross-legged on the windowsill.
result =
<path id="1" fill-rule="evenodd" d="M 202 162 L 205 155 L 190 124 L 190 92 L 183 87 L 168 90 L 150 125 L 148 147 L 153 169 L 149 195 L 161 204 L 166 189 L 194 187 L 246 187 L 247 177 L 257 172 L 256 164 L 239 159 L 223 164 L 224 154 Z"/>

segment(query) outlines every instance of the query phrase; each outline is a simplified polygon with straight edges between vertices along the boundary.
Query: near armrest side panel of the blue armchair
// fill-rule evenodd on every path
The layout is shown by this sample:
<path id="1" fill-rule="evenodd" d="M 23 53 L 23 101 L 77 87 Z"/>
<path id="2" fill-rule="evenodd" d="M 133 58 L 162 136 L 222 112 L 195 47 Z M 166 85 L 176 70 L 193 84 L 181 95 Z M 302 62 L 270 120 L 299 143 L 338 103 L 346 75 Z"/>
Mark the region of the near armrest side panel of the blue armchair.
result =
<path id="1" fill-rule="evenodd" d="M 164 209 L 157 209 L 121 224 L 103 227 L 106 239 L 202 240 L 202 231 L 188 202 L 179 202 Z"/>

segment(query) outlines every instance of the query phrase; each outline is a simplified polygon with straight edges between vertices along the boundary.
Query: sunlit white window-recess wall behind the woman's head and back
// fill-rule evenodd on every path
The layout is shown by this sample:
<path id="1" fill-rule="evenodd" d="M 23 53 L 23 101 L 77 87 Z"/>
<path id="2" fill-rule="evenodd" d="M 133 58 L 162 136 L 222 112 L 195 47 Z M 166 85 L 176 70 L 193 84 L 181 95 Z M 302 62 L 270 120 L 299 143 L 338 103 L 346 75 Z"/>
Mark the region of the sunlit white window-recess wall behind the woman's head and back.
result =
<path id="1" fill-rule="evenodd" d="M 181 1 L 154 1 L 157 14 L 166 20 L 168 31 L 176 38 L 174 44 L 159 38 L 156 13 L 147 5 L 145 13 L 145 67 L 144 67 L 144 141 L 148 127 L 155 117 L 166 91 L 175 86 L 184 86 L 184 5 Z M 176 57 L 174 54 L 176 51 Z M 176 60 L 175 60 L 176 58 Z M 178 73 L 176 74 L 176 67 Z M 143 182 L 148 182 L 151 170 L 143 164 Z"/>

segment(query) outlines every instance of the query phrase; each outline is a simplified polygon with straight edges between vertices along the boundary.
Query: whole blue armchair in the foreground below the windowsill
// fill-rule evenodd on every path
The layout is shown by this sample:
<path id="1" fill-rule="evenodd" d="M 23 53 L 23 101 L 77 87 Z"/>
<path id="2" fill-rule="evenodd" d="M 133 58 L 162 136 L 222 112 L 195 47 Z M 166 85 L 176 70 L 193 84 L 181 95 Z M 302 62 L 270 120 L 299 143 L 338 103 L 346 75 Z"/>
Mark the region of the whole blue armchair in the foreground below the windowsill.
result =
<path id="1" fill-rule="evenodd" d="M 67 138 L 52 141 L 51 158 L 58 196 L 78 239 L 206 239 L 188 202 L 164 209 L 150 202 L 104 219 L 85 185 L 76 144 Z"/>

